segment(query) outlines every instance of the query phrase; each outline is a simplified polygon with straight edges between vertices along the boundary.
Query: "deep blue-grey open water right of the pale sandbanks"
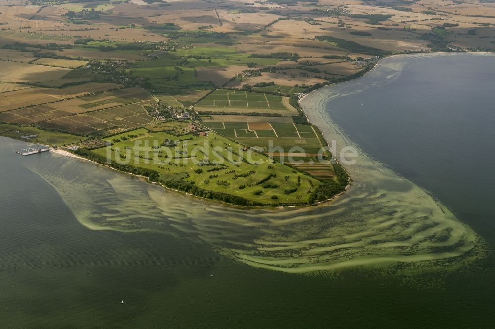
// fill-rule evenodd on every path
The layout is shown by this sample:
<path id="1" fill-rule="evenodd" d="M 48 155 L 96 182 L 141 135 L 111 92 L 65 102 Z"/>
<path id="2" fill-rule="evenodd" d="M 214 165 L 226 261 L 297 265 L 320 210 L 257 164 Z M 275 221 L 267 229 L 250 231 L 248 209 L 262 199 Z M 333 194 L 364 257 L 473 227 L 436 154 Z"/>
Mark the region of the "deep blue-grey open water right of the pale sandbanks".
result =
<path id="1" fill-rule="evenodd" d="M 341 95 L 326 104 L 333 121 L 495 241 L 495 56 L 397 56 L 383 66 L 400 74 L 329 88 Z"/>

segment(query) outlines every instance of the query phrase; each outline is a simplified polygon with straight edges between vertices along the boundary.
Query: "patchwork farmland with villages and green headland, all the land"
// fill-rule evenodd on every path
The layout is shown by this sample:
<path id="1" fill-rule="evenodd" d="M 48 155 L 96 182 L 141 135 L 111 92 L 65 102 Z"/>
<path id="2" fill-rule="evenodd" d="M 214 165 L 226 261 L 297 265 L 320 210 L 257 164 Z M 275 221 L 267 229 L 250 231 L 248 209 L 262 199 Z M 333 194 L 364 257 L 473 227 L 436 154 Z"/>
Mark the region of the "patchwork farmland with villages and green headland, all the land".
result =
<path id="1" fill-rule="evenodd" d="M 6 17 L 0 135 L 73 146 L 78 156 L 229 204 L 315 205 L 352 179 L 301 99 L 391 55 L 495 50 L 487 35 L 495 24 L 456 17 L 438 25 L 443 10 L 368 4 L 368 14 L 299 2 L 276 10 L 207 3 L 212 21 L 196 9 L 176 19 L 177 4 L 153 1 L 134 4 L 129 18 L 139 23 L 130 24 L 117 14 L 125 1 L 115 11 L 63 5 L 61 15 L 47 15 L 60 23 L 49 29 Z M 159 13 L 148 17 L 145 8 Z"/>

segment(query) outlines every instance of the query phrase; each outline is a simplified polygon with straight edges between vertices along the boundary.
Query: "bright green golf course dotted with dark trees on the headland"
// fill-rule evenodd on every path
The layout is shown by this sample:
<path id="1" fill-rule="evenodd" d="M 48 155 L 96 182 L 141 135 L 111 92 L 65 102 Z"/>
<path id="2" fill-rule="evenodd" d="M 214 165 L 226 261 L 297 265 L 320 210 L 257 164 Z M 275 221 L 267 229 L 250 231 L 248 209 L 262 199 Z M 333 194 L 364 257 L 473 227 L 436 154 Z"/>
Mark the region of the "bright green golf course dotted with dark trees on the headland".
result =
<path id="1" fill-rule="evenodd" d="M 321 184 L 264 155 L 244 151 L 240 144 L 215 133 L 176 137 L 138 129 L 104 141 L 113 145 L 93 152 L 119 163 L 157 170 L 162 180 L 184 179 L 203 189 L 267 204 L 305 203 L 308 192 Z M 297 190 L 285 193 L 292 189 Z"/>

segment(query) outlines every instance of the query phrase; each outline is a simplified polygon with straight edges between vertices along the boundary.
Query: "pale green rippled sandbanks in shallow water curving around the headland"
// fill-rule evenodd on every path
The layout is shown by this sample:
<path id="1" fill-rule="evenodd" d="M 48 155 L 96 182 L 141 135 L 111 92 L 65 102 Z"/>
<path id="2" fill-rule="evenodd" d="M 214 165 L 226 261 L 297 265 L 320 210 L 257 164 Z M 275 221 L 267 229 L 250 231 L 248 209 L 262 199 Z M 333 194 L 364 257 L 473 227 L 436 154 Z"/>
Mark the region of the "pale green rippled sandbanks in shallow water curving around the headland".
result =
<path id="1" fill-rule="evenodd" d="M 357 163 L 348 168 L 352 188 L 318 206 L 274 211 L 186 197 L 184 192 L 163 193 L 161 186 L 129 180 L 114 171 L 99 170 L 84 186 L 72 177 L 72 166 L 37 171 L 87 227 L 178 234 L 263 269 L 313 275 L 363 266 L 396 269 L 394 264 L 400 263 L 400 273 L 414 275 L 447 272 L 483 257 L 484 241 L 468 225 L 425 189 L 361 152 L 339 131 L 326 110 L 329 97 L 327 90 L 311 93 L 302 102 L 305 113 L 325 140 L 336 140 L 339 148 L 354 146 L 359 152 Z M 88 164 L 74 165 L 81 173 L 94 171 Z M 101 195 L 111 199 L 103 201 Z M 130 202 L 146 205 L 146 211 L 136 213 Z M 438 236 L 445 239 L 437 240 Z"/>

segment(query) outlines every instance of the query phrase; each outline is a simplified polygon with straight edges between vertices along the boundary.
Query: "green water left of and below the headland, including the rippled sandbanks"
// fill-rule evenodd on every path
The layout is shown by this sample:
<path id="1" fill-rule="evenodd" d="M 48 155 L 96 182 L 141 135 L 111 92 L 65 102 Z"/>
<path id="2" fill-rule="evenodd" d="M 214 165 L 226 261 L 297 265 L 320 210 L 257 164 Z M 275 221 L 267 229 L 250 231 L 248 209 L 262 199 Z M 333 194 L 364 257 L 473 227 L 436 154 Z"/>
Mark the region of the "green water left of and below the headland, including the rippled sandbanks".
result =
<path id="1" fill-rule="evenodd" d="M 394 61 L 352 83 L 404 78 L 414 65 Z M 353 145 L 329 116 L 346 108 L 329 112 L 342 98 L 336 88 L 302 105 L 328 140 Z M 354 183 L 344 196 L 273 210 L 165 192 L 78 159 L 12 152 L 24 145 L 0 139 L 1 327 L 493 324 L 490 239 L 364 151 L 348 167 Z"/>

